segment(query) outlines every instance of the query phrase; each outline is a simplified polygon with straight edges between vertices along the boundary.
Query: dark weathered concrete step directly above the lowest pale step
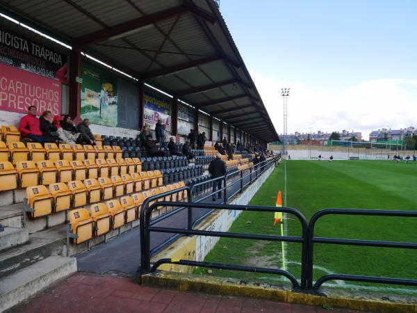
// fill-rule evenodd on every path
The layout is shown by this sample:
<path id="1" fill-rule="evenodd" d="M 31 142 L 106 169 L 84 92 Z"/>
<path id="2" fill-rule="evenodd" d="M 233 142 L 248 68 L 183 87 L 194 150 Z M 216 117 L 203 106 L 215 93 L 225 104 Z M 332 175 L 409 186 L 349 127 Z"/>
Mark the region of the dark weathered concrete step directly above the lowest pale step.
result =
<path id="1" fill-rule="evenodd" d="M 25 244 L 0 252 L 0 278 L 51 255 L 67 255 L 65 226 L 31 234 Z"/>

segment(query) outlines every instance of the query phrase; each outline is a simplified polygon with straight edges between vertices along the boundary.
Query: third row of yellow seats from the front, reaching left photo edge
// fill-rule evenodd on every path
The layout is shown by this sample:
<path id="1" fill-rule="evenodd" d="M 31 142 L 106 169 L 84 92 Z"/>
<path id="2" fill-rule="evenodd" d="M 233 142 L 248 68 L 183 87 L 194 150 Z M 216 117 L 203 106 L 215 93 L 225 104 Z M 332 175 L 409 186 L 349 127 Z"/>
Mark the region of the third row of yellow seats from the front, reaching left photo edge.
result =
<path id="1" fill-rule="evenodd" d="M 142 176 L 151 175 L 148 172 L 142 172 L 142 163 L 139 159 L 97 159 L 95 162 L 92 160 L 18 161 L 16 167 L 8 161 L 1 161 L 0 191 L 26 188 L 38 184 L 49 185 L 56 182 L 133 175 L 135 173 Z M 162 177 L 160 170 L 153 173 Z"/>

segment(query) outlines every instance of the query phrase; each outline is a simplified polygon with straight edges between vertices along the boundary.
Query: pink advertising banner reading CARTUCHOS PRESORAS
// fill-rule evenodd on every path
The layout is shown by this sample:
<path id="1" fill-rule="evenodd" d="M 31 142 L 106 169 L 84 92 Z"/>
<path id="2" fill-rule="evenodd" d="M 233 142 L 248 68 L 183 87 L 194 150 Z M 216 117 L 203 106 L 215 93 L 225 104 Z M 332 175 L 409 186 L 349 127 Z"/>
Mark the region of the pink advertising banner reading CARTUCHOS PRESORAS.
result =
<path id="1" fill-rule="evenodd" d="M 28 106 L 60 115 L 61 83 L 0 64 L 0 111 L 27 113 Z"/>

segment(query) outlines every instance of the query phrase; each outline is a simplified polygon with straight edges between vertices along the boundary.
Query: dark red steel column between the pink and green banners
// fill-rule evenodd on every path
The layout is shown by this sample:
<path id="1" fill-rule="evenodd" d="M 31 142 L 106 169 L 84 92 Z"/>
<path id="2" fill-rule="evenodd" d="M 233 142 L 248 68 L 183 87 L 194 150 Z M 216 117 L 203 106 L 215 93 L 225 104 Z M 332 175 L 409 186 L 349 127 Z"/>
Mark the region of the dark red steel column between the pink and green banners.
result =
<path id="1" fill-rule="evenodd" d="M 72 49 L 70 54 L 70 115 L 76 124 L 81 122 L 81 85 L 75 81 L 81 77 L 81 54 Z"/>

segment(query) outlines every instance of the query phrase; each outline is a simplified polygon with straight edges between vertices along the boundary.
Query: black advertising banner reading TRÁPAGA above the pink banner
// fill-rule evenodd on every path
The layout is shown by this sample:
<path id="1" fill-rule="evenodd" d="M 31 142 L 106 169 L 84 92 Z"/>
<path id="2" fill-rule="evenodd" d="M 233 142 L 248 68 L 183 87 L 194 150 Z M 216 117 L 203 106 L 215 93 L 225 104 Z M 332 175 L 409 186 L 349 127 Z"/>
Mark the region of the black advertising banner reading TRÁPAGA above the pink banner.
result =
<path id="1" fill-rule="evenodd" d="M 0 29 L 0 63 L 61 83 L 67 82 L 67 56 L 11 31 Z"/>

